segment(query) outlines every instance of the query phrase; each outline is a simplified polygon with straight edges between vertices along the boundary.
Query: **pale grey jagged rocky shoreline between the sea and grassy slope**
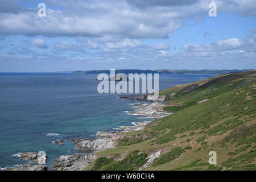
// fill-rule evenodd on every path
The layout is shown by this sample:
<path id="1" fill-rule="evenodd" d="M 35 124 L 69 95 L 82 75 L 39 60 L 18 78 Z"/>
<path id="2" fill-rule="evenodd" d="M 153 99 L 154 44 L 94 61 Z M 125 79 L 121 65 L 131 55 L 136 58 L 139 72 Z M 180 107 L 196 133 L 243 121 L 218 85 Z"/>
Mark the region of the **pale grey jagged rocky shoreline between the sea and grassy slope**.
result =
<path id="1" fill-rule="evenodd" d="M 129 96 L 129 97 L 121 97 L 130 100 L 137 101 L 149 101 L 147 100 L 147 96 L 143 96 L 144 100 L 140 99 L 142 96 Z M 146 98 L 146 99 L 145 99 Z M 160 100 L 151 101 L 150 103 L 136 102 L 131 104 L 131 107 L 134 108 L 133 111 L 129 111 L 128 114 L 138 115 L 138 118 L 148 118 L 148 119 L 156 119 L 162 118 L 168 113 L 164 111 L 162 108 L 164 106 L 163 98 L 160 97 Z M 89 138 L 73 138 L 71 139 L 75 146 L 73 147 L 75 150 L 86 153 L 77 153 L 73 155 L 61 155 L 53 160 L 51 167 L 47 167 L 46 165 L 36 165 L 40 156 L 38 156 L 35 152 L 26 152 L 19 153 L 19 157 L 23 160 L 28 160 L 30 163 L 28 164 L 19 164 L 15 167 L 2 168 L 4 171 L 45 171 L 47 169 L 52 169 L 56 171 L 80 171 L 85 169 L 90 163 L 94 162 L 98 158 L 97 152 L 107 150 L 108 148 L 114 148 L 116 146 L 116 141 L 118 138 L 122 137 L 122 134 L 129 131 L 142 130 L 144 127 L 150 123 L 151 121 L 143 121 L 143 122 L 134 122 L 131 126 L 121 126 L 118 131 L 99 131 L 97 133 L 97 139 L 92 140 Z M 55 144 L 63 145 L 63 140 L 56 140 L 53 142 Z M 148 162 L 145 165 L 150 165 L 150 161 L 152 162 L 155 158 L 159 157 L 160 152 L 157 151 L 155 154 L 152 154 L 149 157 Z M 34 163 L 34 164 L 31 164 Z M 146 166 L 141 168 L 144 169 Z"/>

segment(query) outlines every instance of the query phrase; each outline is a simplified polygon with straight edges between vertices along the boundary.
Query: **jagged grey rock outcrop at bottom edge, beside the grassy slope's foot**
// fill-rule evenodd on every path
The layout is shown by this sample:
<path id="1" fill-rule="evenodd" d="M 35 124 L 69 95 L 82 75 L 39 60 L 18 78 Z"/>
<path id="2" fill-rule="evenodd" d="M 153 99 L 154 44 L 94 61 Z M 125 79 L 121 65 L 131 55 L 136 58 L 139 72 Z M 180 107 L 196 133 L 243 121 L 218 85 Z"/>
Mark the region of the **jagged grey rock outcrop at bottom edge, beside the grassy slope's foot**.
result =
<path id="1" fill-rule="evenodd" d="M 94 154 L 61 155 L 53 160 L 51 168 L 55 171 L 81 171 L 95 158 Z"/>

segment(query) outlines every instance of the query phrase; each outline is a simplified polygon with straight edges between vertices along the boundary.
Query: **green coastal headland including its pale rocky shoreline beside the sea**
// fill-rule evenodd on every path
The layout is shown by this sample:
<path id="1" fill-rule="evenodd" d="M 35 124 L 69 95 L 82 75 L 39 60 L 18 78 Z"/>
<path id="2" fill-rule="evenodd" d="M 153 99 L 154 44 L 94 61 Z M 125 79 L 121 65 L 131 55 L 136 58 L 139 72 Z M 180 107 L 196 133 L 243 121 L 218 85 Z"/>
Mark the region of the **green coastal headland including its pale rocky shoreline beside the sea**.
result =
<path id="1" fill-rule="evenodd" d="M 256 71 L 176 85 L 160 91 L 159 96 L 164 96 L 164 101 L 149 102 L 148 95 L 123 96 L 139 101 L 131 106 L 135 110 L 129 114 L 155 121 L 135 122 L 120 127 L 119 132 L 100 131 L 96 140 L 72 139 L 75 150 L 90 153 L 59 156 L 51 168 L 256 169 Z M 216 151 L 216 165 L 208 163 L 209 151 Z M 27 165 L 26 169 L 46 167 Z"/>

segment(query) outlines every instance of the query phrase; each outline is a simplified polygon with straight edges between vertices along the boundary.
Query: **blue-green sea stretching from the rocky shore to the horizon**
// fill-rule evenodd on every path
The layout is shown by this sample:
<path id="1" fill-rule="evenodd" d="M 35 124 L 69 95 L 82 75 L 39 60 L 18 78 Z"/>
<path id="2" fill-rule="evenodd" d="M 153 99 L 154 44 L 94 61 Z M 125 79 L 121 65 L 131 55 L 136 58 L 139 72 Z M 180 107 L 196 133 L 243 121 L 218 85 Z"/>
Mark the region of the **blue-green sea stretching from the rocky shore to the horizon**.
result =
<path id="1" fill-rule="evenodd" d="M 159 75 L 159 89 L 212 75 Z M 27 163 L 18 152 L 45 151 L 48 166 L 59 155 L 73 154 L 71 138 L 92 138 L 97 131 L 131 125 L 136 101 L 99 94 L 97 75 L 0 73 L 0 167 Z M 52 143 L 64 139 L 65 144 Z M 12 156 L 14 155 L 14 156 Z"/>

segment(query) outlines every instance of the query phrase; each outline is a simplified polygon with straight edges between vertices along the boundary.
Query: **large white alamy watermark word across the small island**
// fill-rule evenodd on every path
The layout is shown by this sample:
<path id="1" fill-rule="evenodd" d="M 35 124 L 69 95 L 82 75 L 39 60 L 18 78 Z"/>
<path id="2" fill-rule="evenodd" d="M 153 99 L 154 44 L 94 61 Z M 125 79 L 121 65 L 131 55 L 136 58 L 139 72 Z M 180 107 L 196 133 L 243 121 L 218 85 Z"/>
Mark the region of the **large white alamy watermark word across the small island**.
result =
<path id="1" fill-rule="evenodd" d="M 129 73 L 128 77 L 123 73 L 115 75 L 115 69 L 110 69 L 110 77 L 106 73 L 100 73 L 97 80 L 101 80 L 98 84 L 98 93 L 148 93 L 154 94 L 157 99 L 159 95 L 159 74 L 154 73 Z M 116 84 L 116 81 L 117 82 Z M 154 82 L 154 88 L 153 84 Z"/>

